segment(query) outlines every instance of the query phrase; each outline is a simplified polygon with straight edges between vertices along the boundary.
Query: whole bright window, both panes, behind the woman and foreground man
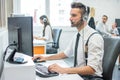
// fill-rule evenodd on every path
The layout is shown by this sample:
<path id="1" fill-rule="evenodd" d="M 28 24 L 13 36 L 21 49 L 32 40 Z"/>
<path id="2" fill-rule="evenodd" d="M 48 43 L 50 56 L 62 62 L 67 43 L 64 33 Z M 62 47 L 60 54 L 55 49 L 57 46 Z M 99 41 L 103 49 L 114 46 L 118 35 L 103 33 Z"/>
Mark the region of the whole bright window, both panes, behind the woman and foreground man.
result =
<path id="1" fill-rule="evenodd" d="M 70 26 L 69 17 L 72 1 L 73 0 L 21 0 L 21 13 L 33 16 L 34 25 L 40 25 L 39 17 L 45 14 L 50 19 L 52 26 Z"/>

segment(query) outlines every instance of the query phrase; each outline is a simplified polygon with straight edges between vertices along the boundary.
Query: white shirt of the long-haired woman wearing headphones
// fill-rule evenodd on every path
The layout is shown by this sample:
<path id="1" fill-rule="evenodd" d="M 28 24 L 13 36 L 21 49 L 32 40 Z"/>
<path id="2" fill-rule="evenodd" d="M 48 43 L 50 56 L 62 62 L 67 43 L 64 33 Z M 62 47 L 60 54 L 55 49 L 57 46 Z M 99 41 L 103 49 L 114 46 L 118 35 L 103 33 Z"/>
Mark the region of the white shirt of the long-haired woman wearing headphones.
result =
<path id="1" fill-rule="evenodd" d="M 52 29 L 49 25 L 47 25 L 45 28 L 45 36 L 43 38 L 46 39 L 46 42 L 53 42 Z"/>

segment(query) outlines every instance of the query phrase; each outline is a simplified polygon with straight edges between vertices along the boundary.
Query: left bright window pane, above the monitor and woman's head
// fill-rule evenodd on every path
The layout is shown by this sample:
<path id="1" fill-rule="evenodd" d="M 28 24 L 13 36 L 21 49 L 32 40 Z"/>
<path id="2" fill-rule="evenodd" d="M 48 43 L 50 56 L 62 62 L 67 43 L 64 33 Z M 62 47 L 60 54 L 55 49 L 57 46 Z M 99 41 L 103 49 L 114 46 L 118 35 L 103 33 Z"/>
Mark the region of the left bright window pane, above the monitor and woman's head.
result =
<path id="1" fill-rule="evenodd" d="M 34 25 L 39 25 L 40 15 L 45 14 L 45 0 L 21 0 L 21 13 L 33 16 Z"/>

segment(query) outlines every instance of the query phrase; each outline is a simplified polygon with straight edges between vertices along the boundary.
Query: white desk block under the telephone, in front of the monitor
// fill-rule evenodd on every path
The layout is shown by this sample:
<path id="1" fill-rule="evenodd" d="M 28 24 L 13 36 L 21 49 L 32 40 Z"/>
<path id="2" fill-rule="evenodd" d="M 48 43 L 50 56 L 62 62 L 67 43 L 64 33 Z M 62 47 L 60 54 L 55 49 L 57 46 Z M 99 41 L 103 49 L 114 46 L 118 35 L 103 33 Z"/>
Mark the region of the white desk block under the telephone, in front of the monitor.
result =
<path id="1" fill-rule="evenodd" d="M 23 54 L 24 55 L 24 54 Z M 27 59 L 25 64 L 12 64 L 5 62 L 3 80 L 35 80 L 35 64 L 31 57 L 24 55 Z"/>

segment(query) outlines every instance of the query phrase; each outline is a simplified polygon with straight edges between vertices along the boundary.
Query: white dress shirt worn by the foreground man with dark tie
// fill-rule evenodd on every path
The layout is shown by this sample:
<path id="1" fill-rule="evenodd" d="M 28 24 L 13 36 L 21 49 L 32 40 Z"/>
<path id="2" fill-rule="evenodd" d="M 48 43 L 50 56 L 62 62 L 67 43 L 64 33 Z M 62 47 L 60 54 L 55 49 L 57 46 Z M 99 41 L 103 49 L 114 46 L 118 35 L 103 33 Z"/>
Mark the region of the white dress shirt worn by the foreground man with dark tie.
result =
<path id="1" fill-rule="evenodd" d="M 80 33 L 80 39 L 78 44 L 78 53 L 77 53 L 77 67 L 85 66 L 85 44 L 88 37 L 96 32 L 94 29 L 88 25 L 82 29 Z M 67 49 L 64 51 L 67 57 L 72 57 L 75 50 L 76 36 L 72 38 L 71 43 L 68 45 Z M 94 34 L 91 36 L 88 42 L 88 62 L 87 65 L 91 66 L 96 72 L 95 75 L 102 76 L 102 58 L 104 53 L 104 40 L 100 34 Z"/>

